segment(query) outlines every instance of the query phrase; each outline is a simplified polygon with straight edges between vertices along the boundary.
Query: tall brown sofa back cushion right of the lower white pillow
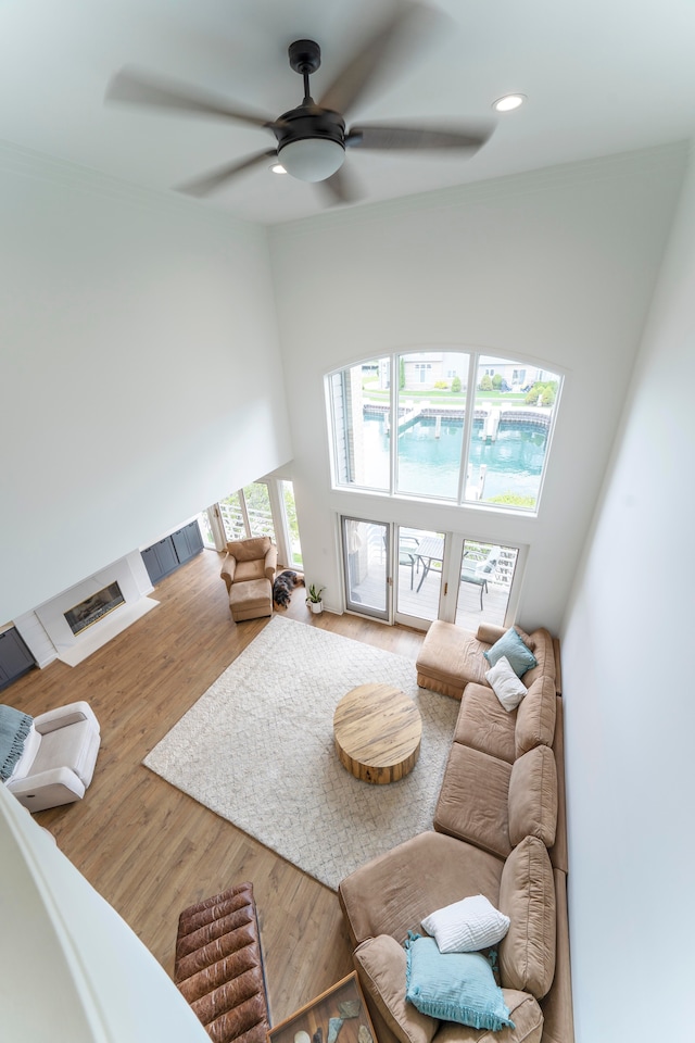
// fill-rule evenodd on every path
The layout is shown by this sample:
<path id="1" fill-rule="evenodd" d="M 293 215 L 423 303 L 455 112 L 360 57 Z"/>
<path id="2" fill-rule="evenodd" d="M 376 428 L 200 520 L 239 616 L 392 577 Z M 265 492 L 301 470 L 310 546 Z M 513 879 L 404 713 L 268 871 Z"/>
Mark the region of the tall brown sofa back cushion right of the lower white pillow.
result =
<path id="1" fill-rule="evenodd" d="M 510 920 L 497 950 L 502 985 L 541 1000 L 555 975 L 555 884 L 538 837 L 526 837 L 505 862 L 497 905 Z"/>

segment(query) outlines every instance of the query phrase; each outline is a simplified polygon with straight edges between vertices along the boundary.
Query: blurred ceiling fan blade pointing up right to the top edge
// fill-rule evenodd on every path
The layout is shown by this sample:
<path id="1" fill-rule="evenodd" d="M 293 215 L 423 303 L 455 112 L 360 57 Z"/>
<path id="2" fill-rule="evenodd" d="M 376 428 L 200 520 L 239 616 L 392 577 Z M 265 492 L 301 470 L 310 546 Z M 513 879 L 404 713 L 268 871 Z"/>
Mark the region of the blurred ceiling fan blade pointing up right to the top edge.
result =
<path id="1" fill-rule="evenodd" d="M 424 35 L 438 17 L 424 4 L 412 0 L 399 2 L 377 32 L 364 40 L 354 56 L 343 65 L 318 102 L 321 109 L 331 109 L 344 116 L 375 87 L 377 76 L 397 75 L 409 60 L 416 42 L 421 47 Z"/>

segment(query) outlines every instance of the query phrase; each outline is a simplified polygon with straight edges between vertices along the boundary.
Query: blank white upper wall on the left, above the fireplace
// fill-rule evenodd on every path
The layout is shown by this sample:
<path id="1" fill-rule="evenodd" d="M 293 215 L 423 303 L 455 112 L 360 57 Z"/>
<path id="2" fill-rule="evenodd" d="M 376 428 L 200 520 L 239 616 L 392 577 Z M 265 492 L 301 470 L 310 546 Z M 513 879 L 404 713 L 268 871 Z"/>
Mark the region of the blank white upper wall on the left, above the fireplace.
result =
<path id="1" fill-rule="evenodd" d="M 0 621 L 291 457 L 266 233 L 0 149 Z"/>

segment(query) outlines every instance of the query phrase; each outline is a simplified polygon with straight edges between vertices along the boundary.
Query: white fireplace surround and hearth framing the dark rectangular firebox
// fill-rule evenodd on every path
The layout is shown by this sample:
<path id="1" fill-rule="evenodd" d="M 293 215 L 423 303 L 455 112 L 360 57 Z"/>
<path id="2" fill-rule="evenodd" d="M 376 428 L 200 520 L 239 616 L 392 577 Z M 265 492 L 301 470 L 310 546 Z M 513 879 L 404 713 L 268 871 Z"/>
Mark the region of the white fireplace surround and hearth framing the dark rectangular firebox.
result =
<path id="1" fill-rule="evenodd" d="M 124 604 L 73 633 L 65 613 L 113 582 L 118 583 Z M 14 625 L 39 666 L 55 658 L 76 666 L 156 607 L 159 602 L 147 596 L 153 589 L 141 554 L 134 551 L 15 619 Z"/>

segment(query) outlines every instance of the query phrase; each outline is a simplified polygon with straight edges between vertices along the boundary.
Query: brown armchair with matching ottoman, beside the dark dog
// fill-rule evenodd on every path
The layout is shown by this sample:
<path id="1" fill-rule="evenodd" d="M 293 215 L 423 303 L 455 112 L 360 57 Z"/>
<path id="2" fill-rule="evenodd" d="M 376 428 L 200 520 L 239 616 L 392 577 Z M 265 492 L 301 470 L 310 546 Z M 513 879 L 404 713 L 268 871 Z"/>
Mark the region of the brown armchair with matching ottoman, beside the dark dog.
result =
<path id="1" fill-rule="evenodd" d="M 278 549 L 268 536 L 227 543 L 219 574 L 227 585 L 235 623 L 273 615 L 273 582 Z"/>

